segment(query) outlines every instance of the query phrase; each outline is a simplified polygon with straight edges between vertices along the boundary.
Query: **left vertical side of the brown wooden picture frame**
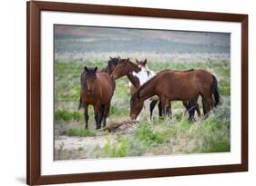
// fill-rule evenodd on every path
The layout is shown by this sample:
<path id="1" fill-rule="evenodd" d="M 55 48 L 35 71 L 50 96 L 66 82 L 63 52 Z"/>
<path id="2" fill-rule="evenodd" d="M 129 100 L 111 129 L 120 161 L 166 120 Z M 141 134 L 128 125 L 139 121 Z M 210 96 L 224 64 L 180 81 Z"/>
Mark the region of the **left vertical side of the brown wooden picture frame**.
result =
<path id="1" fill-rule="evenodd" d="M 26 2 L 26 183 L 40 180 L 40 10 Z M 32 52 L 33 48 L 33 52 Z"/>

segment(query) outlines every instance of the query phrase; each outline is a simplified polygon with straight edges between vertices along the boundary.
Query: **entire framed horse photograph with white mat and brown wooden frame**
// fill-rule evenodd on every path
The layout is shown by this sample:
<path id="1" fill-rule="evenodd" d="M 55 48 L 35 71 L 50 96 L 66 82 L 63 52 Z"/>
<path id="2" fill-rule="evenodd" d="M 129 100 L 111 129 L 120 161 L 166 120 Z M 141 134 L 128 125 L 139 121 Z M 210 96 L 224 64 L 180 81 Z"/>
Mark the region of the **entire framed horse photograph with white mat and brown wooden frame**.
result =
<path id="1" fill-rule="evenodd" d="M 248 171 L 248 15 L 26 7 L 27 184 Z"/>

